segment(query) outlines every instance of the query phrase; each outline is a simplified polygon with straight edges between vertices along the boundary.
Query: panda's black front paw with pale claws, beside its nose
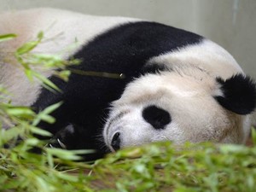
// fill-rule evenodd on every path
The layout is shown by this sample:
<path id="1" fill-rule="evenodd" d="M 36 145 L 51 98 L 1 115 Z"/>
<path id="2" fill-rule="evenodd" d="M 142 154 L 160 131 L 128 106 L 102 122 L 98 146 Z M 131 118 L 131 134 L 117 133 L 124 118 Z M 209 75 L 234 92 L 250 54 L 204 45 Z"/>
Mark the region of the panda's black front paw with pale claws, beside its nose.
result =
<path id="1" fill-rule="evenodd" d="M 102 139 L 103 122 L 98 113 L 84 112 L 75 115 L 70 123 L 55 133 L 49 146 L 65 149 L 92 149 L 91 154 L 82 155 L 85 160 L 96 160 L 110 152 Z"/>

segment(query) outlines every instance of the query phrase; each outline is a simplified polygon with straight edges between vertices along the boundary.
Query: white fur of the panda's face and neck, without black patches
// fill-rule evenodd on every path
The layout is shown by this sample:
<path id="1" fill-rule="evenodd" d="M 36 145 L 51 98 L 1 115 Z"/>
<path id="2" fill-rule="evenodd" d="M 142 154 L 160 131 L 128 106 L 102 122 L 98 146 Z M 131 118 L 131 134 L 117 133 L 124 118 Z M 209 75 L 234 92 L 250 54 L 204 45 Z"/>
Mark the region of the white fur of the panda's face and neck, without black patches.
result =
<path id="1" fill-rule="evenodd" d="M 241 67 L 223 48 L 209 40 L 151 58 L 165 64 L 172 73 L 148 74 L 125 88 L 113 102 L 113 110 L 103 136 L 111 147 L 120 132 L 121 147 L 171 140 L 174 143 L 212 141 L 245 143 L 250 131 L 250 115 L 238 115 L 222 108 L 213 96 L 221 96 L 216 77 L 230 78 Z M 142 117 L 143 108 L 155 105 L 172 116 L 164 130 L 155 130 Z M 116 115 L 126 111 L 121 118 Z M 109 125 L 109 122 L 112 122 Z M 113 148 L 112 148 L 113 150 Z"/>

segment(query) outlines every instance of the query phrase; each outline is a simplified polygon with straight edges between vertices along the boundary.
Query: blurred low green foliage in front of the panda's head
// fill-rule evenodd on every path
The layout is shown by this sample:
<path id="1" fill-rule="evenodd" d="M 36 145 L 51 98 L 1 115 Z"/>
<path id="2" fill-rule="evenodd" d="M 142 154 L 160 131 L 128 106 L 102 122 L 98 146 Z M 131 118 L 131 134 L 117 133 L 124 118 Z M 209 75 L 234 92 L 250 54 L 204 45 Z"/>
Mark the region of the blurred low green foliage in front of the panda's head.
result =
<path id="1" fill-rule="evenodd" d="M 94 169 L 98 179 L 111 175 L 117 191 L 254 191 L 255 158 L 255 147 L 154 143 L 98 160 Z"/>

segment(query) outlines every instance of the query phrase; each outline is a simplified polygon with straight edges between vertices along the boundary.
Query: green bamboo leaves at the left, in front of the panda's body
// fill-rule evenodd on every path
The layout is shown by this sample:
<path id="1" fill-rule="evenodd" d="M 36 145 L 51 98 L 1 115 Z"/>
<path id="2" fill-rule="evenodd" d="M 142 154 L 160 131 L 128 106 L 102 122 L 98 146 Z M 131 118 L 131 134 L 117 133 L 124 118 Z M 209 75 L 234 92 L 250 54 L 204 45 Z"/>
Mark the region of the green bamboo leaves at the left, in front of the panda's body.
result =
<path id="1" fill-rule="evenodd" d="M 13 34 L 2 35 L 0 42 L 15 37 Z M 28 79 L 38 79 L 49 90 L 58 90 L 42 73 L 58 69 L 53 71 L 54 74 L 67 80 L 70 73 L 65 68 L 78 64 L 79 61 L 63 61 L 61 55 L 33 54 L 32 50 L 42 42 L 43 38 L 44 33 L 39 32 L 35 41 L 22 45 L 14 55 Z M 1 85 L 1 101 L 6 101 L 8 95 L 8 90 Z M 2 183 L 0 191 L 59 191 L 62 184 L 68 189 L 69 182 L 79 181 L 79 177 L 62 172 L 56 167 L 58 164 L 76 167 L 73 160 L 80 160 L 79 154 L 92 153 L 91 151 L 49 148 L 46 142 L 33 136 L 33 134 L 51 136 L 48 131 L 39 129 L 37 125 L 41 120 L 54 123 L 55 119 L 49 113 L 60 105 L 61 102 L 55 103 L 37 114 L 31 108 L 14 106 L 11 101 L 0 102 L 0 183 Z M 3 125 L 10 128 L 3 129 Z M 42 153 L 32 153 L 32 148 L 38 148 Z"/>

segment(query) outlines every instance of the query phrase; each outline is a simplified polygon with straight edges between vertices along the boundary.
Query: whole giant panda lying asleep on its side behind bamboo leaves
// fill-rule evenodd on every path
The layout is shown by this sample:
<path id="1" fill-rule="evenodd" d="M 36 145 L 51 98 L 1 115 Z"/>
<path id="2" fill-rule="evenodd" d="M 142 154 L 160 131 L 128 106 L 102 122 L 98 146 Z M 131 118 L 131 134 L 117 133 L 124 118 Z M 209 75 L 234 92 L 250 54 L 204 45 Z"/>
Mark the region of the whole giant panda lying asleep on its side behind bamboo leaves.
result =
<path id="1" fill-rule="evenodd" d="M 72 73 L 68 83 L 44 75 L 61 93 L 30 83 L 8 54 L 43 31 L 33 52 L 81 60 L 72 70 L 120 74 L 120 78 Z M 144 143 L 245 143 L 256 88 L 218 44 L 193 32 L 148 20 L 82 15 L 60 9 L 10 11 L 0 16 L 0 84 L 15 105 L 41 111 L 63 101 L 41 127 L 55 147 L 96 149 L 98 154 Z M 70 44 L 79 45 L 66 49 Z M 66 51 L 65 51 L 66 49 Z M 60 145 L 60 146 L 58 146 Z"/>

